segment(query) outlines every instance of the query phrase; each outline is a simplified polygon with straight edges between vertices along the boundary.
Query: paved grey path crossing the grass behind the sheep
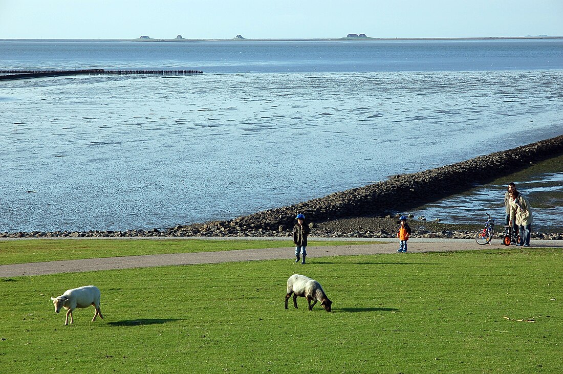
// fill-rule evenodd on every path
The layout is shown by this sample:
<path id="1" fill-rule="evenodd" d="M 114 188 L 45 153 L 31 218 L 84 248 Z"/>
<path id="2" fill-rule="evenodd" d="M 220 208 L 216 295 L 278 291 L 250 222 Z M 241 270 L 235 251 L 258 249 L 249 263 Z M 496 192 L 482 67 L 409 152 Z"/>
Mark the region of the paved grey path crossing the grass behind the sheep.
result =
<path id="1" fill-rule="evenodd" d="M 317 239 L 321 240 L 321 239 Z M 350 256 L 350 255 L 373 255 L 373 254 L 395 254 L 397 256 L 408 255 L 396 253 L 397 240 L 372 239 L 387 241 L 385 244 L 359 244 L 343 246 L 307 247 L 307 260 L 311 263 L 315 259 L 325 256 Z M 532 246 L 537 247 L 561 247 L 563 241 L 555 240 L 532 240 Z M 516 249 L 515 246 L 506 247 L 499 240 L 493 240 L 492 245 L 480 246 L 475 240 L 463 239 L 416 239 L 409 240 L 409 252 L 435 252 L 435 251 L 459 251 L 459 250 L 488 250 L 488 249 Z M 52 262 L 37 262 L 26 264 L 0 265 L 0 277 L 37 276 L 44 274 L 89 272 L 98 270 L 115 270 L 131 268 L 148 268 L 166 265 L 193 265 L 211 264 L 224 262 L 240 262 L 255 260 L 293 259 L 294 248 L 267 248 L 267 249 L 244 249 L 221 252 L 198 252 L 198 253 L 176 253 L 162 255 L 143 255 L 127 257 L 109 257 L 82 260 L 64 260 Z"/>

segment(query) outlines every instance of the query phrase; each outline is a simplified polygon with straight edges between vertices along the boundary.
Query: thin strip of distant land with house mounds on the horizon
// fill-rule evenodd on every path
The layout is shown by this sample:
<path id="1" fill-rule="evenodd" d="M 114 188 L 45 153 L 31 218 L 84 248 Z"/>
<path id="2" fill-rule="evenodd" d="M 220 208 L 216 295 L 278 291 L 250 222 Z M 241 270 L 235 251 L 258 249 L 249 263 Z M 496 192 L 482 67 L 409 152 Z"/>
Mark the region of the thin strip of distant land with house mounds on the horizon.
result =
<path id="1" fill-rule="evenodd" d="M 180 35 L 178 35 L 180 36 Z M 191 39 L 191 38 L 173 38 L 173 39 L 162 39 L 162 38 L 150 38 L 150 37 L 139 37 L 132 39 L 1 39 L 1 41 L 60 41 L 60 42 L 341 42 L 346 40 L 353 41 L 392 41 L 392 40 L 512 40 L 512 39 L 563 39 L 563 36 L 552 37 L 549 35 L 537 35 L 537 36 L 526 36 L 526 37 L 463 37 L 463 38 L 373 38 L 373 37 L 342 37 L 342 38 L 243 38 L 235 37 L 230 39 L 212 39 L 212 38 L 201 38 L 201 39 Z"/>

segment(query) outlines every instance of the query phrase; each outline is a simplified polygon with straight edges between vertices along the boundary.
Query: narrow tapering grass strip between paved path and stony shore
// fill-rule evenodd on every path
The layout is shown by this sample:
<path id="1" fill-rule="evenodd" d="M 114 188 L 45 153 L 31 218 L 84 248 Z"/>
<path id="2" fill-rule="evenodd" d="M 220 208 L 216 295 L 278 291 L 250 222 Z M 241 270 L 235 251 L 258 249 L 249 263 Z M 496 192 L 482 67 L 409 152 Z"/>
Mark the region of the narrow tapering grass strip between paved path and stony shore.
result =
<path id="1" fill-rule="evenodd" d="M 370 243 L 372 242 L 310 240 L 309 246 Z M 8 240 L 0 241 L 0 264 L 291 246 L 291 240 Z"/>

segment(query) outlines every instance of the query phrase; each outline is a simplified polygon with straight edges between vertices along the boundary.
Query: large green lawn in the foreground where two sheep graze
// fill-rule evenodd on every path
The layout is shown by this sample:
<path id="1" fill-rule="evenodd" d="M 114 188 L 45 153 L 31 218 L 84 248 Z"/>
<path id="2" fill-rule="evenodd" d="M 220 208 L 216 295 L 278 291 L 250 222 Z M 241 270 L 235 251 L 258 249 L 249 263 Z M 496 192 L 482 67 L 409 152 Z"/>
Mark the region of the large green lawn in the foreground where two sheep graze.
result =
<path id="1" fill-rule="evenodd" d="M 302 298 L 284 309 L 296 272 L 323 285 L 333 313 Z M 560 249 L 511 248 L 3 278 L 0 363 L 29 373 L 560 373 L 562 273 Z M 105 319 L 78 309 L 63 326 L 50 296 L 90 284 Z"/>

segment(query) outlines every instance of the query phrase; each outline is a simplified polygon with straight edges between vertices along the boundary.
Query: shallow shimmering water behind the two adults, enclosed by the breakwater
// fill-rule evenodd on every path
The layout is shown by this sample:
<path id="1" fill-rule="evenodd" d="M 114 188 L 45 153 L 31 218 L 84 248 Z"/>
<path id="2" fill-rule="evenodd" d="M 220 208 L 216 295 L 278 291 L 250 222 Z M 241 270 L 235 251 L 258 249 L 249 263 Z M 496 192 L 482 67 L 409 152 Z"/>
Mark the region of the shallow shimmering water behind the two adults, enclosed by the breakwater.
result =
<path id="1" fill-rule="evenodd" d="M 533 174 L 534 170 L 546 169 L 546 165 L 555 172 Z M 489 213 L 502 226 L 505 215 L 504 193 L 508 182 L 512 181 L 516 183 L 517 190 L 530 201 L 533 231 L 563 228 L 563 157 L 546 161 L 541 166 L 543 167 L 531 168 L 528 172 L 516 173 L 514 179 L 508 177 L 502 181 L 497 180 L 466 193 L 427 204 L 413 211 L 413 214 L 427 220 L 439 218 L 443 223 L 475 224 L 484 223 L 485 213 Z"/>

